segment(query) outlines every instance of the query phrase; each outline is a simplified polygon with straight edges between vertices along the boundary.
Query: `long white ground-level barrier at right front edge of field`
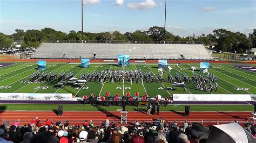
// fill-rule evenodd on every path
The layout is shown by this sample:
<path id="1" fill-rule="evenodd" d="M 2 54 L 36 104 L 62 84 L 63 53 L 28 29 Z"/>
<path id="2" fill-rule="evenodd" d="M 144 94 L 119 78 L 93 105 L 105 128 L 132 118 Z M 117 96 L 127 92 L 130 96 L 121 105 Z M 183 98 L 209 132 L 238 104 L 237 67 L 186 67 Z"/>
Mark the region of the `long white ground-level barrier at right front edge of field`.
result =
<path id="1" fill-rule="evenodd" d="M 173 101 L 251 101 L 250 94 L 173 94 Z"/>

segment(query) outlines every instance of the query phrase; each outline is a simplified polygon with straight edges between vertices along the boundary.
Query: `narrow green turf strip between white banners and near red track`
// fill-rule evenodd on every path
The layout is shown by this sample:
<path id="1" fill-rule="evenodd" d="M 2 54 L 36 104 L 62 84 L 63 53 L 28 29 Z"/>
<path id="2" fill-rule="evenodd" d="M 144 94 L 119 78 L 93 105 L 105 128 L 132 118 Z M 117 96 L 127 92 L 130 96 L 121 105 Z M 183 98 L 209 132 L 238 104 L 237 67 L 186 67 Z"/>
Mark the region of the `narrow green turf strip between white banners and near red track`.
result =
<path id="1" fill-rule="evenodd" d="M 174 105 L 161 106 L 160 111 L 184 111 L 185 105 L 178 105 L 173 107 Z M 35 111 L 51 111 L 53 109 L 57 109 L 57 105 L 55 104 L 0 104 L 0 110 L 35 110 Z M 121 106 L 110 106 L 107 108 L 106 106 L 92 106 L 90 104 L 64 104 L 63 110 L 65 111 L 117 111 L 117 109 L 122 109 Z M 141 105 L 139 107 L 136 106 L 126 106 L 127 111 L 137 111 L 143 110 L 146 111 L 146 106 Z M 190 105 L 190 111 L 254 111 L 254 107 L 252 105 Z"/>

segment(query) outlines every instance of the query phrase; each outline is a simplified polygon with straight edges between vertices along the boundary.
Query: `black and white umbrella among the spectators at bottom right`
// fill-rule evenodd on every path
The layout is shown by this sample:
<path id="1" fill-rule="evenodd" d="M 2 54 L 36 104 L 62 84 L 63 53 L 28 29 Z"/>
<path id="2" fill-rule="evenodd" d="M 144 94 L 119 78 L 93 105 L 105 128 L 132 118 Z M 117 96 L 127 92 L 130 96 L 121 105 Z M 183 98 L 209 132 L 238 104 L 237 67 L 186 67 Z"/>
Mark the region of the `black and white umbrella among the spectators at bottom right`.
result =
<path id="1" fill-rule="evenodd" d="M 231 123 L 214 125 L 206 142 L 255 143 L 256 139 L 239 124 Z"/>

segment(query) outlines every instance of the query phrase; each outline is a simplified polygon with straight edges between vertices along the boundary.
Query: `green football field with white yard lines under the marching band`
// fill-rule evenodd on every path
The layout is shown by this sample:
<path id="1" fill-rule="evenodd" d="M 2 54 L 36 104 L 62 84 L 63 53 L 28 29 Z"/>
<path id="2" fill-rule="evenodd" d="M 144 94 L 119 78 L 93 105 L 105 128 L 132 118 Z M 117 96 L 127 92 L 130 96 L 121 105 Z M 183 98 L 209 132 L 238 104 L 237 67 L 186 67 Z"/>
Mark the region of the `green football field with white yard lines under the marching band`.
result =
<path id="1" fill-rule="evenodd" d="M 32 73 L 37 71 L 37 64 L 28 63 L 0 63 L 0 92 L 1 93 L 71 93 L 75 97 L 81 97 L 84 94 L 90 95 L 94 92 L 95 95 L 105 95 L 107 90 L 110 91 L 110 95 L 116 95 L 118 91 L 120 95 L 125 95 L 129 90 L 131 95 L 134 95 L 136 91 L 139 91 L 140 96 L 145 95 L 145 92 L 151 97 L 156 95 L 172 96 L 173 94 L 256 94 L 256 67 L 255 65 L 244 64 L 211 64 L 208 70 L 210 74 L 217 77 L 218 88 L 217 91 L 210 92 L 209 90 L 197 90 L 196 82 L 191 80 L 190 84 L 185 83 L 185 90 L 181 87 L 172 87 L 172 84 L 167 80 L 168 69 L 164 69 L 163 81 L 158 81 L 158 65 L 157 64 L 134 64 L 131 63 L 130 67 L 124 68 L 124 70 L 142 70 L 143 72 L 151 72 L 154 74 L 153 82 L 144 81 L 143 84 L 138 81 L 134 81 L 132 84 L 127 80 L 123 83 L 107 80 L 101 84 L 100 81 L 87 81 L 86 84 L 74 87 L 72 83 L 66 82 L 62 87 L 56 88 L 55 84 L 57 80 L 51 82 L 30 82 Z M 192 78 L 192 72 L 190 67 L 194 66 L 197 69 L 200 68 L 199 63 L 184 64 L 169 64 L 173 69 L 171 74 L 175 77 L 179 74 L 183 77 L 184 74 Z M 90 68 L 81 68 L 80 63 L 47 63 L 46 72 L 54 72 L 57 75 L 61 72 L 72 72 L 74 77 L 79 78 L 83 73 L 100 73 L 105 69 L 122 69 L 117 67 L 116 63 L 91 63 Z M 41 73 L 43 71 L 40 71 Z M 194 71 L 196 75 L 203 75 L 203 71 Z M 205 75 L 207 75 L 205 73 Z M 174 80 L 174 82 L 176 82 Z M 169 88 L 174 90 L 169 90 Z"/>

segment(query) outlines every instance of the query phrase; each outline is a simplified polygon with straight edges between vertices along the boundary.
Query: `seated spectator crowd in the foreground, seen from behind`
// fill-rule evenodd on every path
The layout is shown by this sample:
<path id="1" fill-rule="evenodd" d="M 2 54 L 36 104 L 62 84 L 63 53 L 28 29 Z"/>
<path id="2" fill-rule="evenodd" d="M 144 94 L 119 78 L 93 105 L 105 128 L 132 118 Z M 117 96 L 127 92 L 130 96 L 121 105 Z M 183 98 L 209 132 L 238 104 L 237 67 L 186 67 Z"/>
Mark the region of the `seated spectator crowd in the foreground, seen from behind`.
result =
<path id="1" fill-rule="evenodd" d="M 0 143 L 75 143 L 75 142 L 171 142 L 171 143 L 199 143 L 206 142 L 193 129 L 196 123 L 184 123 L 178 125 L 164 120 L 156 120 L 153 123 L 141 123 L 136 120 L 133 125 L 118 126 L 109 120 L 105 120 L 99 126 L 95 126 L 92 120 L 83 121 L 81 125 L 70 125 L 69 121 L 52 123 L 49 119 L 42 123 L 38 118 L 31 119 L 30 124 L 19 126 L 15 121 L 10 126 L 0 126 Z M 216 124 L 219 124 L 218 121 Z M 210 128 L 211 129 L 211 128 Z M 254 137 L 255 131 L 250 124 L 245 125 L 245 130 L 251 132 Z"/>

